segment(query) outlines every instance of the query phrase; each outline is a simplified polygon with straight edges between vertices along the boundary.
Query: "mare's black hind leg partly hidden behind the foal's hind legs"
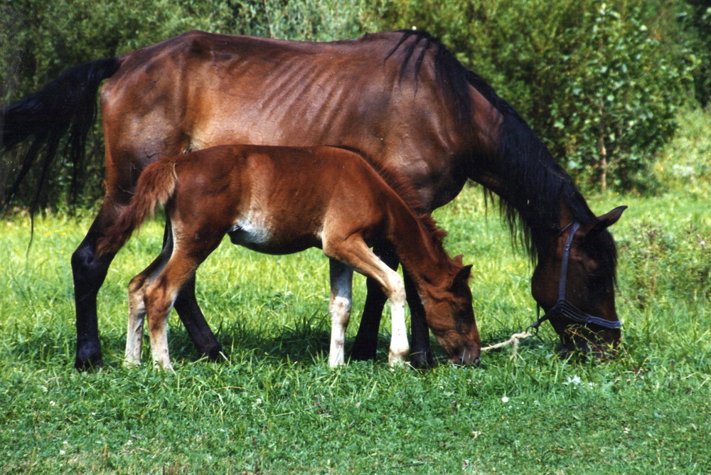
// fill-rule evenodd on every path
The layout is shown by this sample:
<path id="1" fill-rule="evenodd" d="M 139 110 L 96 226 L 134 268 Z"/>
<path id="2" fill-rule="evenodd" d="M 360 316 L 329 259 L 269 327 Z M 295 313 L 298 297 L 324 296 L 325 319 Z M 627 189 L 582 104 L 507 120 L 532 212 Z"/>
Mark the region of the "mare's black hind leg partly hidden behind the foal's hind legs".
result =
<path id="1" fill-rule="evenodd" d="M 173 230 L 169 218 L 166 217 L 166 230 L 163 237 L 164 249 L 173 250 Z M 220 356 L 224 355 L 223 347 L 215 338 L 215 334 L 210 330 L 208 322 L 205 321 L 205 315 L 198 306 L 198 301 L 195 297 L 195 276 L 188 279 L 183 288 L 178 292 L 178 298 L 175 301 L 175 309 L 180 316 L 183 325 L 185 326 L 188 335 L 190 335 L 193 344 L 198 349 L 198 353 L 207 356 L 211 361 L 218 361 Z"/>

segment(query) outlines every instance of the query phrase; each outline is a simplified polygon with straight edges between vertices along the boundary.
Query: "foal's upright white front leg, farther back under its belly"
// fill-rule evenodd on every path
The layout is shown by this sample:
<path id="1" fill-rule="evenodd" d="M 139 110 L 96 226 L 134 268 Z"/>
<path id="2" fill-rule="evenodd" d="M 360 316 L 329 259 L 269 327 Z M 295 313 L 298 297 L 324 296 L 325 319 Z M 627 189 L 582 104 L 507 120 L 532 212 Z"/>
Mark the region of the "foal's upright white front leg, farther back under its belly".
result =
<path id="1" fill-rule="evenodd" d="M 328 352 L 328 365 L 343 364 L 343 344 L 346 342 L 346 329 L 351 319 L 351 292 L 353 289 L 353 269 L 331 259 L 329 274 L 331 277 L 331 349 Z"/>

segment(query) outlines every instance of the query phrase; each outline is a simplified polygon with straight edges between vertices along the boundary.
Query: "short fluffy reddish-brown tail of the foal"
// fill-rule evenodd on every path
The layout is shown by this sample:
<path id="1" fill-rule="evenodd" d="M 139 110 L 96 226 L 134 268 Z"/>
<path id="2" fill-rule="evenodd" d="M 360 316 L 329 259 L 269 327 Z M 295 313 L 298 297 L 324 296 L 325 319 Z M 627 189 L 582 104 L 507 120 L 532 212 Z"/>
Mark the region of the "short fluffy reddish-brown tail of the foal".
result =
<path id="1" fill-rule="evenodd" d="M 146 166 L 138 179 L 136 194 L 122 211 L 116 222 L 97 242 L 97 252 L 105 255 L 115 252 L 129 240 L 134 229 L 150 215 L 157 205 L 166 204 L 173 197 L 178 182 L 174 159 L 160 159 Z"/>

